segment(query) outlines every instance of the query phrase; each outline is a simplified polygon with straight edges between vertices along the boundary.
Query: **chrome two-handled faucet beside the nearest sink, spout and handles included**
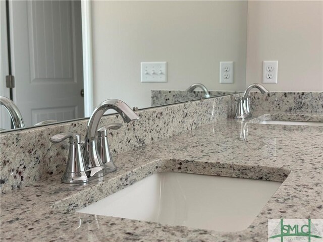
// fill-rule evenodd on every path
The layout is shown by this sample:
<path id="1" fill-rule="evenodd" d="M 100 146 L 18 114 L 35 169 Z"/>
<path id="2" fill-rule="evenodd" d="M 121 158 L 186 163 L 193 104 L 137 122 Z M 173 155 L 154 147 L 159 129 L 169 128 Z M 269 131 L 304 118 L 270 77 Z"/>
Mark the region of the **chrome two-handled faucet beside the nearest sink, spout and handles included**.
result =
<path id="1" fill-rule="evenodd" d="M 113 129 L 117 130 L 121 127 L 120 124 L 113 123 L 106 125 L 98 129 L 99 122 L 104 112 L 114 109 L 123 118 L 125 123 L 129 123 L 133 120 L 139 119 L 140 117 L 123 101 L 117 99 L 108 99 L 100 103 L 93 111 L 89 122 L 87 124 L 87 131 L 84 142 L 84 149 L 81 147 L 79 138 L 71 138 L 71 134 L 63 134 L 63 136 L 53 136 L 49 138 L 52 143 L 61 142 L 67 138 L 70 138 L 70 144 L 72 149 L 76 149 L 74 153 L 78 155 L 79 165 L 75 165 L 75 156 L 69 155 L 66 172 L 62 177 L 63 183 L 75 184 L 75 183 L 86 183 L 94 175 L 102 176 L 107 173 L 116 170 L 116 166 L 113 163 L 109 144 L 107 143 L 106 130 Z M 99 138 L 98 138 L 99 136 Z M 100 147 L 98 147 L 100 146 Z M 76 147 L 76 148 L 75 148 Z M 71 153 L 70 148 L 70 153 Z M 83 149 L 83 153 L 82 150 Z M 73 164 L 73 165 L 71 165 Z M 72 167 L 72 168 L 71 168 Z M 73 167 L 77 167 L 74 169 Z M 81 168 L 80 168 L 81 167 Z M 83 169 L 83 170 L 82 170 Z M 86 174 L 86 178 L 84 177 Z"/>

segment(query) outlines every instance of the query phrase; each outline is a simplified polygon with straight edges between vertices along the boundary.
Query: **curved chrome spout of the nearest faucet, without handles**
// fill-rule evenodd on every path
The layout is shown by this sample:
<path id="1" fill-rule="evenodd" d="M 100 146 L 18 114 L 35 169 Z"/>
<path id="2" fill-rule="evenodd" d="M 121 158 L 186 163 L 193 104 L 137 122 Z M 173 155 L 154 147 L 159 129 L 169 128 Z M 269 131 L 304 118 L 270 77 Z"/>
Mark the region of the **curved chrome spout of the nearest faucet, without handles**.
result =
<path id="1" fill-rule="evenodd" d="M 116 110 L 123 118 L 125 123 L 129 123 L 132 120 L 140 118 L 126 103 L 121 100 L 108 99 L 100 103 L 93 111 L 87 125 L 83 157 L 85 160 L 85 165 L 88 168 L 103 165 L 96 149 L 96 135 L 100 119 L 104 112 L 109 109 Z"/>

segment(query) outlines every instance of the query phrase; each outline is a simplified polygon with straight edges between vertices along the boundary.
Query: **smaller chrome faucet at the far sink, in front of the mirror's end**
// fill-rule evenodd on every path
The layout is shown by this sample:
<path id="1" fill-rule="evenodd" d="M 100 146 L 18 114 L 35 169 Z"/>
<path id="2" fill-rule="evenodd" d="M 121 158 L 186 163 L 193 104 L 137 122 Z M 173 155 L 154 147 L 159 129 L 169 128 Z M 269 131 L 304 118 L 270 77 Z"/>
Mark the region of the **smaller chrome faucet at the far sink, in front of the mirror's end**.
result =
<path id="1" fill-rule="evenodd" d="M 253 83 L 247 87 L 247 89 L 244 91 L 242 97 L 237 97 L 236 100 L 236 115 L 234 118 L 236 119 L 245 119 L 247 117 L 251 117 L 251 111 L 250 111 L 250 98 L 249 98 L 249 92 L 251 89 L 257 88 L 259 91 L 263 93 L 268 93 L 269 91 L 262 85 L 258 83 Z"/>

